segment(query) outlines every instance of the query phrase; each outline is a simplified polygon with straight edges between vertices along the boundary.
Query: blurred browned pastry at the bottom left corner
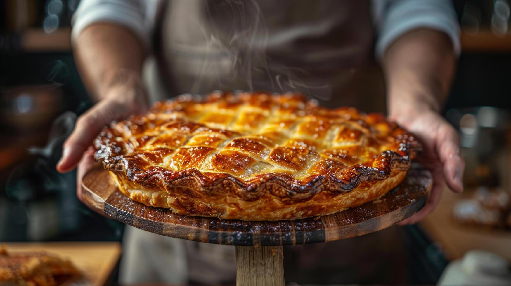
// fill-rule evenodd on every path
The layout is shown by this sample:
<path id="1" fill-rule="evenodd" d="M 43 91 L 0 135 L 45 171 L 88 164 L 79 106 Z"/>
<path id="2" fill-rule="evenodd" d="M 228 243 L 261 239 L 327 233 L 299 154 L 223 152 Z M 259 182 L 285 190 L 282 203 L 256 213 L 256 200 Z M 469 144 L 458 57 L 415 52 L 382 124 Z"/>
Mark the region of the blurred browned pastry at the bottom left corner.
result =
<path id="1" fill-rule="evenodd" d="M 0 285 L 53 286 L 79 275 L 71 261 L 43 251 L 10 254 L 0 248 Z"/>

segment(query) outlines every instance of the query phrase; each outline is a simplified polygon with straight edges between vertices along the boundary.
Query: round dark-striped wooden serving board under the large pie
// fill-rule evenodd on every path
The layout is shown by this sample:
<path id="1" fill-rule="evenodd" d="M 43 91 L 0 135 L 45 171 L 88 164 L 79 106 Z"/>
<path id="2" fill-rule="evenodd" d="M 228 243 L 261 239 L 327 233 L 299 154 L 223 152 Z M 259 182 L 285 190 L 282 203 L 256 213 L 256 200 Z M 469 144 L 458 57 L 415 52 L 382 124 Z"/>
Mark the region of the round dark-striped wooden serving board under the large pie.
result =
<path id="1" fill-rule="evenodd" d="M 378 200 L 329 216 L 273 222 L 188 217 L 149 207 L 121 194 L 102 168 L 87 172 L 82 186 L 92 208 L 143 230 L 205 243 L 278 246 L 341 240 L 389 227 L 426 204 L 431 181 L 428 170 L 415 167 L 399 187 Z"/>

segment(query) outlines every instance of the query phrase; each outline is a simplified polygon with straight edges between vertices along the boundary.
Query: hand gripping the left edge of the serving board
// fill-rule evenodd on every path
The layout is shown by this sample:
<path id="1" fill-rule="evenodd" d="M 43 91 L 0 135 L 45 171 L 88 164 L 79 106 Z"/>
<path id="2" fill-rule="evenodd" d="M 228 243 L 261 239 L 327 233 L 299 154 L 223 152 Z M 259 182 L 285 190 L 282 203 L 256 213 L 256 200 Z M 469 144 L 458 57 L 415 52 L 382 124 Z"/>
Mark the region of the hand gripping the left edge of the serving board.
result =
<path id="1" fill-rule="evenodd" d="M 92 140 L 112 121 L 142 114 L 148 108 L 145 89 L 137 79 L 115 83 L 104 89 L 101 95 L 103 97 L 98 103 L 78 117 L 75 129 L 64 142 L 62 157 L 56 166 L 60 173 L 72 171 L 78 166 L 76 193 L 82 203 L 86 203 L 82 195 L 82 177 L 96 164 Z"/>

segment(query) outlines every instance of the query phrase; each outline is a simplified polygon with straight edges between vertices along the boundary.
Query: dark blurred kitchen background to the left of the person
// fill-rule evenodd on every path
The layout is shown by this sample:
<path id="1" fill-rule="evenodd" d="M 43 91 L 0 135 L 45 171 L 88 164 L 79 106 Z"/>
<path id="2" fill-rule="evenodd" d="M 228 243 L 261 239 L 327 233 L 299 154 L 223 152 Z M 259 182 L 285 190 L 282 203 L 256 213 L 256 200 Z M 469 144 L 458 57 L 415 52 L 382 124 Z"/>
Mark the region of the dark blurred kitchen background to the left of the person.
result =
<path id="1" fill-rule="evenodd" d="M 76 115 L 91 106 L 69 42 L 77 5 L 0 4 L 0 241 L 121 237 L 120 224 L 77 201 L 74 172 L 55 171 Z"/>

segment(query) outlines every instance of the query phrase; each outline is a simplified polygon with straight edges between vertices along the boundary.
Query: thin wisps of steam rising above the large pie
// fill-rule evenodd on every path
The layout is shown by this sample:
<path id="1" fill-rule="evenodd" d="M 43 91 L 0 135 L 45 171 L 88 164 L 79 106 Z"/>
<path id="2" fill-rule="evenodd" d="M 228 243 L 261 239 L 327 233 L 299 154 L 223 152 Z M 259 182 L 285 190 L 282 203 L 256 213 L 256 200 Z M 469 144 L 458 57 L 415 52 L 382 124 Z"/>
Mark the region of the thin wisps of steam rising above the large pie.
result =
<path id="1" fill-rule="evenodd" d="M 303 78 L 312 77 L 305 69 L 286 66 L 268 57 L 268 27 L 255 0 L 208 1 L 205 7 L 213 27 L 210 31 L 202 30 L 206 51 L 222 51 L 228 63 L 234 64 L 231 78 L 242 82 L 250 91 L 300 91 L 322 100 L 330 98 L 329 85 L 312 86 L 304 82 Z M 217 20 L 219 18 L 221 21 Z M 201 71 L 206 67 L 207 63 L 203 63 Z M 192 90 L 200 84 L 200 79 L 199 76 Z M 233 88 L 230 79 L 218 80 L 220 86 Z"/>

